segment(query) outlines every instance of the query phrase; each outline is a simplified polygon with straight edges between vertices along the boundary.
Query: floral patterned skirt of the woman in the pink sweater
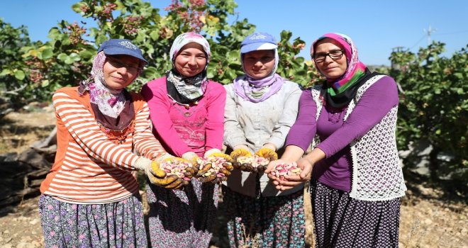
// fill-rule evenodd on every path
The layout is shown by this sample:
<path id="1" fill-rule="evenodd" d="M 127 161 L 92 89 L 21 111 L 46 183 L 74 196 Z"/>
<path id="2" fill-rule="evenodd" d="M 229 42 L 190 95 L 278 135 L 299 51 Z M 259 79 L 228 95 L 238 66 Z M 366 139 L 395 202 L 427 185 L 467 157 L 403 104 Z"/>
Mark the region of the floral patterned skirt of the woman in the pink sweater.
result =
<path id="1" fill-rule="evenodd" d="M 183 189 L 147 184 L 151 247 L 208 247 L 218 208 L 218 185 L 196 179 Z"/>

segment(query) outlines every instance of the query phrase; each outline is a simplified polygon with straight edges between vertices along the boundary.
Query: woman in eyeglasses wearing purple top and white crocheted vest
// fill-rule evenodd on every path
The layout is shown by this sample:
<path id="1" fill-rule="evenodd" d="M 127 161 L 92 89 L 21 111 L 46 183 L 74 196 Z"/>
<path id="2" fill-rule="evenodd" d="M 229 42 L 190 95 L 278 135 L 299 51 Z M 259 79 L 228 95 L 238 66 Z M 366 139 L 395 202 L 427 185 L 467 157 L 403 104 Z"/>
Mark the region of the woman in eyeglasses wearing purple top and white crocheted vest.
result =
<path id="1" fill-rule="evenodd" d="M 369 72 L 346 35 L 322 35 L 311 56 L 325 81 L 303 92 L 286 152 L 267 169 L 296 162 L 302 172 L 269 177 L 283 191 L 311 179 L 317 247 L 398 247 L 406 186 L 395 140 L 396 83 Z"/>

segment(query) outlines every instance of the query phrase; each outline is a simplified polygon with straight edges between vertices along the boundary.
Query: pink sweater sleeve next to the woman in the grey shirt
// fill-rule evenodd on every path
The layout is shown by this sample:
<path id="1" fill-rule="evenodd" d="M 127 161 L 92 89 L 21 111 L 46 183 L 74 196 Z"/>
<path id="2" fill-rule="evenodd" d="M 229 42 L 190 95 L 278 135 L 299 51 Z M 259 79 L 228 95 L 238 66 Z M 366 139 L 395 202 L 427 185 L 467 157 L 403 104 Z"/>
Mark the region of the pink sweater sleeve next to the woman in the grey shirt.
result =
<path id="1" fill-rule="evenodd" d="M 221 84 L 210 82 L 211 94 L 206 102 L 206 144 L 205 151 L 213 148 L 221 150 L 224 132 L 224 106 L 226 91 Z M 208 84 L 208 87 L 210 85 Z"/>

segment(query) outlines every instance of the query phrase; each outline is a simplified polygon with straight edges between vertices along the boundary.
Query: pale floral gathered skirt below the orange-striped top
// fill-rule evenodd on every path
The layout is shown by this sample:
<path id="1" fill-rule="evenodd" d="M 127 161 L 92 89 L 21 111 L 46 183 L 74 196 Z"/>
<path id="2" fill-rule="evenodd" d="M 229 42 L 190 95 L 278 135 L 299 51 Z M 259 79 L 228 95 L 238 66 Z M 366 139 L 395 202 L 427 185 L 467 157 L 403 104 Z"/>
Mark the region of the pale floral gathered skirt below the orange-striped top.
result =
<path id="1" fill-rule="evenodd" d="M 147 247 L 143 206 L 136 196 L 74 204 L 42 195 L 39 213 L 45 247 Z"/>

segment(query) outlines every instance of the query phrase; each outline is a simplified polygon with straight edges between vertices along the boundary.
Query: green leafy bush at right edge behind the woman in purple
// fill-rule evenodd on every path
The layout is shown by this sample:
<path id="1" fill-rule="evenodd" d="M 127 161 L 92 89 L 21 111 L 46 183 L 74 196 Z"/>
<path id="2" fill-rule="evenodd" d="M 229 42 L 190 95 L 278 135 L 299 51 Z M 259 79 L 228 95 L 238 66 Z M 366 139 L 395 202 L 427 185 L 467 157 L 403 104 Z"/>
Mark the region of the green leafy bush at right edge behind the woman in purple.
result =
<path id="1" fill-rule="evenodd" d="M 467 47 L 441 57 L 443 43 L 434 42 L 417 54 L 394 52 L 391 61 L 399 69 L 390 74 L 403 89 L 399 108 L 399 146 L 425 140 L 433 145 L 434 176 L 450 175 L 468 184 L 468 53 Z M 442 162 L 440 152 L 454 158 Z M 443 165 L 443 166 L 442 166 Z"/>

